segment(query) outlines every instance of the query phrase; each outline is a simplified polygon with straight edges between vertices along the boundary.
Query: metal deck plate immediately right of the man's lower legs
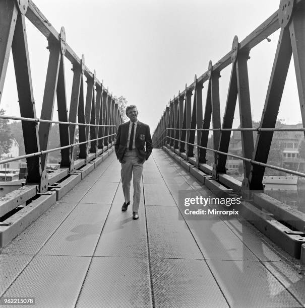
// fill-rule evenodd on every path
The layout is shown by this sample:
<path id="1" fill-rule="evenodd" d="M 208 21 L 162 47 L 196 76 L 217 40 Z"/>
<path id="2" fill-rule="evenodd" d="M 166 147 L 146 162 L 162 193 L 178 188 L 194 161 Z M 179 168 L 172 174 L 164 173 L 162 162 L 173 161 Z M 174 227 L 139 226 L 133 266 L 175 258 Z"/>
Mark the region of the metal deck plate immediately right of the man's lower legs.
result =
<path id="1" fill-rule="evenodd" d="M 144 194 L 146 205 L 176 206 L 175 200 L 164 182 L 144 184 Z"/>

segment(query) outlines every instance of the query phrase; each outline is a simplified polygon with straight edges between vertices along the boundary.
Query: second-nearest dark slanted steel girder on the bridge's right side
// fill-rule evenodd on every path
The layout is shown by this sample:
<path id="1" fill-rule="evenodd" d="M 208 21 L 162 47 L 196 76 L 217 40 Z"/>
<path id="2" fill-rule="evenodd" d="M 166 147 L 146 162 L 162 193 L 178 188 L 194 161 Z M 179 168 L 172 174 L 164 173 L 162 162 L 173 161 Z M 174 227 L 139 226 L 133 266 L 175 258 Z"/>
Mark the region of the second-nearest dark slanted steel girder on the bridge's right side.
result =
<path id="1" fill-rule="evenodd" d="M 233 119 L 234 119 L 234 112 L 237 100 L 237 78 L 236 78 L 236 64 L 235 62 L 232 63 L 231 69 L 231 76 L 230 76 L 230 83 L 227 95 L 227 101 L 223 116 L 222 128 L 232 128 Z M 230 131 L 221 131 L 220 140 L 219 140 L 219 147 L 218 150 L 221 152 L 228 152 L 229 150 L 229 143 L 230 143 Z M 226 160 L 227 156 L 218 154 L 217 158 L 217 165 L 216 170 L 217 173 L 226 173 Z"/>

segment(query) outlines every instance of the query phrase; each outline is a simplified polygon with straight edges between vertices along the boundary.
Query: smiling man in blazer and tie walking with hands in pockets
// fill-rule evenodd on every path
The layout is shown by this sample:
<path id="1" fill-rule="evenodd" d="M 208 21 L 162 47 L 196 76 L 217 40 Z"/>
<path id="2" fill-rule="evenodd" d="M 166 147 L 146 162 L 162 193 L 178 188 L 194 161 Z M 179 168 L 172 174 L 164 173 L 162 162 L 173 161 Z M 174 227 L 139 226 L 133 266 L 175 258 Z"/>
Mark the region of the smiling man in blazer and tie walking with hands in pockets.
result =
<path id="1" fill-rule="evenodd" d="M 122 211 L 126 211 L 130 204 L 130 183 L 134 177 L 133 219 L 139 218 L 143 164 L 153 149 L 149 126 L 138 121 L 138 114 L 137 106 L 127 106 L 126 115 L 130 121 L 118 126 L 114 145 L 116 157 L 121 163 L 121 181 L 125 198 Z"/>

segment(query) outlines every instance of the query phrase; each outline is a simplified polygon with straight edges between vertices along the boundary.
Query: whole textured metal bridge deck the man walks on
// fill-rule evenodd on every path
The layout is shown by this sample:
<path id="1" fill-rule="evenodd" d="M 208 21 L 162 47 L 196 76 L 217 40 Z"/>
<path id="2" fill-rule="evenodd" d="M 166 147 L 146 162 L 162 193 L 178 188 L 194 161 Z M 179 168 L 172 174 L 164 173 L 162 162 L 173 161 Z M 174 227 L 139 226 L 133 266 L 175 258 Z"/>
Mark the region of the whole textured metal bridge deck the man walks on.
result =
<path id="1" fill-rule="evenodd" d="M 178 220 L 178 191 L 211 191 L 162 150 L 140 219 L 121 212 L 112 155 L 1 249 L 0 294 L 38 307 L 301 307 L 296 260 L 239 217 Z"/>

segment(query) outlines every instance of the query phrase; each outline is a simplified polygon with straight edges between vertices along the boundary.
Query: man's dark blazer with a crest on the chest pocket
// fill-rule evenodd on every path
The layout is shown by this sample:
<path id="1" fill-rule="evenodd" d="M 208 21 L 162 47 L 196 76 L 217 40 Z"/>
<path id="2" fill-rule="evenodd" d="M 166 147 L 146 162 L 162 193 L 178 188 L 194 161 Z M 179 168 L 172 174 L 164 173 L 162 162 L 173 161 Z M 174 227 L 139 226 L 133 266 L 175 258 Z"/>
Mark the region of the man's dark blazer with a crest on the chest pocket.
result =
<path id="1" fill-rule="evenodd" d="M 130 121 L 120 124 L 117 129 L 114 148 L 116 157 L 119 160 L 124 158 L 127 139 L 128 139 L 129 124 Z M 138 154 L 138 158 L 142 161 L 144 159 L 148 160 L 151 151 L 153 149 L 153 144 L 150 136 L 150 129 L 147 124 L 142 123 L 139 120 L 136 129 L 135 142 L 136 142 L 136 151 Z"/>

